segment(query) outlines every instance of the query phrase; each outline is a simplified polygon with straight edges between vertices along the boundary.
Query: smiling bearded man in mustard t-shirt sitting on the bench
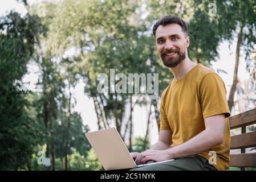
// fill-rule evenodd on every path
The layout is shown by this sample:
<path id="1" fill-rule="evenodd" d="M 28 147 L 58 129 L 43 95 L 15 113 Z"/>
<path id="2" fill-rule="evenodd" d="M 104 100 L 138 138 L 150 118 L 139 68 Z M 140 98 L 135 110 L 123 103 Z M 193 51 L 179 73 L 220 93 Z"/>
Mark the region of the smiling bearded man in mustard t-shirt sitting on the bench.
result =
<path id="1" fill-rule="evenodd" d="M 174 78 L 162 93 L 158 142 L 150 150 L 131 155 L 137 164 L 175 160 L 132 170 L 227 169 L 230 112 L 224 82 L 212 69 L 189 59 L 184 20 L 166 15 L 155 24 L 153 34 Z"/>

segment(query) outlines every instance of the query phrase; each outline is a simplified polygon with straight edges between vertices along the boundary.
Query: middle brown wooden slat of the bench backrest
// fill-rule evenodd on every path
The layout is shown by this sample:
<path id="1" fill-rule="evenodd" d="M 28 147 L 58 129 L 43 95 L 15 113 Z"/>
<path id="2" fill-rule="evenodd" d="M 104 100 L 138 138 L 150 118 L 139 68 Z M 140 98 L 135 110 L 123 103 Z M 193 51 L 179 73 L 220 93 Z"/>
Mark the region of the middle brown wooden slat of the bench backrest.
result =
<path id="1" fill-rule="evenodd" d="M 256 147 L 256 131 L 231 137 L 230 148 Z"/>

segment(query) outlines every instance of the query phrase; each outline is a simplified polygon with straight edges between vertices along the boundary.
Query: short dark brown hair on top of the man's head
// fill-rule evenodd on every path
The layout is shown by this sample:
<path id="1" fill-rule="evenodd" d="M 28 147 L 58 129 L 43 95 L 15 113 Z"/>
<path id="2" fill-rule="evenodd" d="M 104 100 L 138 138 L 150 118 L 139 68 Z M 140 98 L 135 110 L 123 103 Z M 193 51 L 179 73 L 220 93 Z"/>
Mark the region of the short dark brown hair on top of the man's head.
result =
<path id="1" fill-rule="evenodd" d="M 186 24 L 186 22 L 184 20 L 182 20 L 180 17 L 175 16 L 175 15 L 162 16 L 162 18 L 160 20 L 158 20 L 156 22 L 156 24 L 154 24 L 154 26 L 153 26 L 153 35 L 156 36 L 156 30 L 160 25 L 166 26 L 167 24 L 170 24 L 170 23 L 179 24 L 182 28 L 182 31 L 184 31 L 186 33 L 186 35 L 188 36 L 188 25 Z"/>

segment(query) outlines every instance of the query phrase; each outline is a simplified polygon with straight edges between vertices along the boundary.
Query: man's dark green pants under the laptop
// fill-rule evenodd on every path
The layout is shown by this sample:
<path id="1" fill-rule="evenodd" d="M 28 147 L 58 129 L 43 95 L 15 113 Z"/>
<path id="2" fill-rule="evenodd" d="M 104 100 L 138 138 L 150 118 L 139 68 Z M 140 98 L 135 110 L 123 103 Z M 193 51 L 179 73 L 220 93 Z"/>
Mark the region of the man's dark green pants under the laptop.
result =
<path id="1" fill-rule="evenodd" d="M 137 167 L 131 171 L 217 171 L 209 164 L 208 159 L 200 155 L 187 156 L 169 162 L 151 164 L 149 166 Z"/>

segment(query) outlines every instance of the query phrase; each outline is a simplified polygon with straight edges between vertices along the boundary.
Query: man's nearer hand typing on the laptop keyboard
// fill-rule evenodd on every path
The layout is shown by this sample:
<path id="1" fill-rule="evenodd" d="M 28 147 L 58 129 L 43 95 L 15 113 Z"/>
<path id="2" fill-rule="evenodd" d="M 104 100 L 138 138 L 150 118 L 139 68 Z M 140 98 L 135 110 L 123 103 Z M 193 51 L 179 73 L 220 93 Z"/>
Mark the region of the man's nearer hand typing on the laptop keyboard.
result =
<path id="1" fill-rule="evenodd" d="M 169 152 L 167 150 L 146 150 L 145 152 L 137 155 L 135 160 L 136 164 L 145 164 L 149 161 L 159 162 L 162 160 L 172 159 Z"/>

